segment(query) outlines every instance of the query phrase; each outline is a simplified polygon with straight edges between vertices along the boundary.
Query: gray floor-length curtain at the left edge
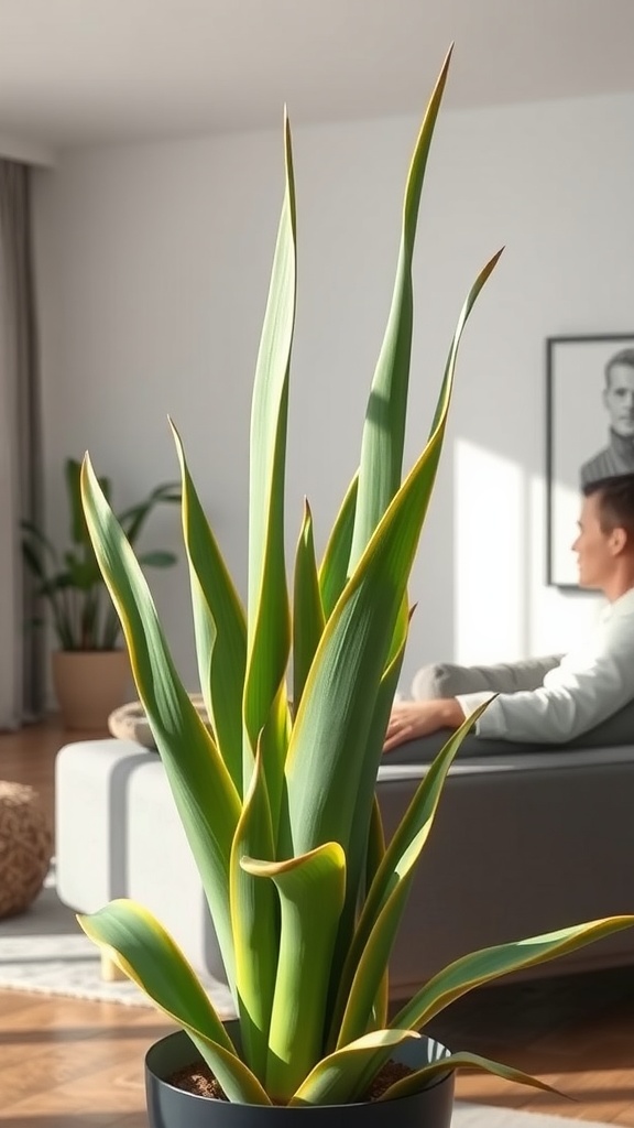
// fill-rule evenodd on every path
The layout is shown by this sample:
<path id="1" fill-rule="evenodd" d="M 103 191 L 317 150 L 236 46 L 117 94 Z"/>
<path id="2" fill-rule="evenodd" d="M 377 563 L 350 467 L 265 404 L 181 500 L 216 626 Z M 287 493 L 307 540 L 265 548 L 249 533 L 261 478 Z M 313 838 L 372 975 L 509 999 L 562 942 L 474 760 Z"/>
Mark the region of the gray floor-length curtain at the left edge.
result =
<path id="1" fill-rule="evenodd" d="M 29 169 L 0 160 L 0 729 L 44 700 L 34 585 L 21 563 L 21 518 L 42 523 L 42 439 Z"/>

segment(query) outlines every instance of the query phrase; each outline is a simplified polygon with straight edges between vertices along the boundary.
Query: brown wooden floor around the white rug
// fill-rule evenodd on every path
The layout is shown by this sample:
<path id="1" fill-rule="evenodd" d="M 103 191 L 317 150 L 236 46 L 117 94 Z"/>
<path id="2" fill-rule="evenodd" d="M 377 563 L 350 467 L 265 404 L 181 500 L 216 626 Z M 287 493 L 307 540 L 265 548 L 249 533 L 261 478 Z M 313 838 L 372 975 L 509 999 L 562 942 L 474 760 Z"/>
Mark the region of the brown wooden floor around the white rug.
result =
<path id="1" fill-rule="evenodd" d="M 54 756 L 80 735 L 0 734 L 0 778 L 32 783 L 53 819 Z M 1 1128 L 144 1128 L 143 1055 L 168 1029 L 150 1008 L 0 992 Z M 481 990 L 432 1032 L 567 1094 L 461 1075 L 464 1100 L 634 1128 L 634 969 Z"/>

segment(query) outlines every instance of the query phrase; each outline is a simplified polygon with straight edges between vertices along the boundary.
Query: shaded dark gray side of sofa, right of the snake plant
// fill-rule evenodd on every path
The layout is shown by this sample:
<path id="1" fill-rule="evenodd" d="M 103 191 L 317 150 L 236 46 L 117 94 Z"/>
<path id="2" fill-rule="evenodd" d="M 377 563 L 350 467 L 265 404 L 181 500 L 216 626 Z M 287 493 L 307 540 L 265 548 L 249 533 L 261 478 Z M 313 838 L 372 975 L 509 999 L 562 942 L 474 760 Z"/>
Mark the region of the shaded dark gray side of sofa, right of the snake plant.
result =
<path id="1" fill-rule="evenodd" d="M 381 768 L 388 834 L 424 770 L 414 763 Z M 477 948 L 633 913 L 633 795 L 634 741 L 457 760 L 397 937 L 393 996 Z M 627 929 L 522 976 L 632 962 Z"/>

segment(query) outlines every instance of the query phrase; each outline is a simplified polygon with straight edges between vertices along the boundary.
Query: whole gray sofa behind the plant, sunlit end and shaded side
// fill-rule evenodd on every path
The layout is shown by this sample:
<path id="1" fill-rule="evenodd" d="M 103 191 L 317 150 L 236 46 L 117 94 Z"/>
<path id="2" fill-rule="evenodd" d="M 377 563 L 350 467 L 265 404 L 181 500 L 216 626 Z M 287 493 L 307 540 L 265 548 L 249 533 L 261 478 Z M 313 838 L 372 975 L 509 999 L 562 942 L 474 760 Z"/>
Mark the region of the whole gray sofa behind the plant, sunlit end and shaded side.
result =
<path id="1" fill-rule="evenodd" d="M 413 743 L 402 754 L 415 760 L 422 751 Z M 425 769 L 386 758 L 377 792 L 388 835 Z M 634 911 L 633 795 L 634 742 L 457 760 L 397 937 L 393 997 L 476 948 Z M 124 740 L 68 744 L 58 755 L 56 808 L 62 901 L 89 913 L 133 897 L 199 970 L 222 978 L 159 757 Z M 625 931 L 523 975 L 633 961 L 634 931 Z"/>

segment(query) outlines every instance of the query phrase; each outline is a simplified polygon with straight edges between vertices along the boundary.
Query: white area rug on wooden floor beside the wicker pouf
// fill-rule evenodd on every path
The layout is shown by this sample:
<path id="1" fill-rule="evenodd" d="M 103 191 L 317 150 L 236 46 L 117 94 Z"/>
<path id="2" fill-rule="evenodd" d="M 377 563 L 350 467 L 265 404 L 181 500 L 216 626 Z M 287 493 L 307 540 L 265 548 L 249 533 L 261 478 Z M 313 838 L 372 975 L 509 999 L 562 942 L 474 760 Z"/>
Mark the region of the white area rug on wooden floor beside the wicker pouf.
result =
<path id="1" fill-rule="evenodd" d="M 219 1015 L 232 1017 L 231 995 L 224 984 L 202 976 L 201 981 Z M 26 913 L 0 920 L 0 988 L 153 1005 L 129 979 L 102 979 L 99 951 L 82 933 L 72 909 L 61 904 L 52 875 Z"/>

